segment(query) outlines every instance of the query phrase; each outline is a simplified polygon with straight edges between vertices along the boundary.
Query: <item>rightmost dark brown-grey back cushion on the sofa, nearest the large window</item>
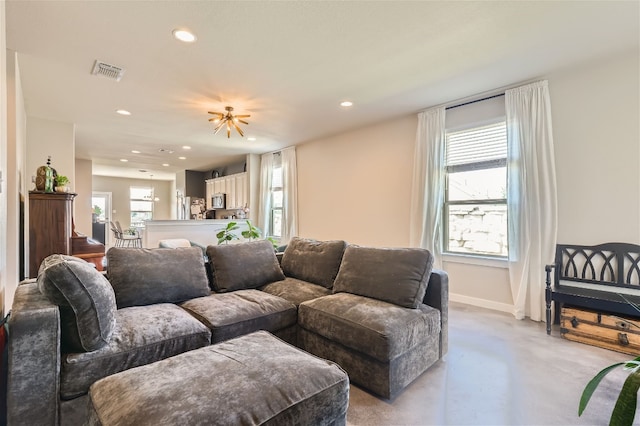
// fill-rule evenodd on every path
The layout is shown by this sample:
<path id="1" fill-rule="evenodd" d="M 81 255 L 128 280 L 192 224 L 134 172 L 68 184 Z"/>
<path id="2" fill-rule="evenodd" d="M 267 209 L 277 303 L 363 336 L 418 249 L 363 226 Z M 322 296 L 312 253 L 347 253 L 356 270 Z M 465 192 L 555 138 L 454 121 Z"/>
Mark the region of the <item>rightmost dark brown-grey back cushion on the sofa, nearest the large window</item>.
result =
<path id="1" fill-rule="evenodd" d="M 417 308 L 427 291 L 433 256 L 419 248 L 371 248 L 349 245 L 333 292 L 372 297 Z"/>

